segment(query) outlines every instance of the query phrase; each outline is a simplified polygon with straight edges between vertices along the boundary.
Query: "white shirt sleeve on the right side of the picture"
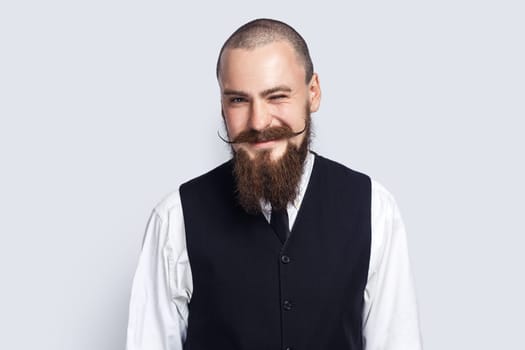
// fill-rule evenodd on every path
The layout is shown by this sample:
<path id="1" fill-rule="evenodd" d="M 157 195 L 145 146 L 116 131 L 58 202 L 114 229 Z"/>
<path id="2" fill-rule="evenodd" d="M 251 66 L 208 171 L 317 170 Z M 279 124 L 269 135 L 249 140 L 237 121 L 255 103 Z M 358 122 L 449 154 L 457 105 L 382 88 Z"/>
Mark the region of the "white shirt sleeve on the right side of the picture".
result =
<path id="1" fill-rule="evenodd" d="M 363 310 L 366 350 L 422 349 L 405 227 L 392 195 L 372 181 L 372 246 Z"/>

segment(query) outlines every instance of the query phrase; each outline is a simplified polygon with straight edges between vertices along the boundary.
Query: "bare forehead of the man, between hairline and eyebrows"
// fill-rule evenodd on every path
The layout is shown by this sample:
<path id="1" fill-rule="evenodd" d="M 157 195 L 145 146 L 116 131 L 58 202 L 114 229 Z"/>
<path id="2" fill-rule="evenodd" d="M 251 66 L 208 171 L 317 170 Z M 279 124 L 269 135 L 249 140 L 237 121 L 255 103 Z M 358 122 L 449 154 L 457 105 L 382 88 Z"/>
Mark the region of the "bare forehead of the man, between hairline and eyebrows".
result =
<path id="1" fill-rule="evenodd" d="M 304 64 L 286 41 L 253 49 L 228 48 L 219 73 L 222 89 L 260 90 L 276 85 L 305 84 Z"/>

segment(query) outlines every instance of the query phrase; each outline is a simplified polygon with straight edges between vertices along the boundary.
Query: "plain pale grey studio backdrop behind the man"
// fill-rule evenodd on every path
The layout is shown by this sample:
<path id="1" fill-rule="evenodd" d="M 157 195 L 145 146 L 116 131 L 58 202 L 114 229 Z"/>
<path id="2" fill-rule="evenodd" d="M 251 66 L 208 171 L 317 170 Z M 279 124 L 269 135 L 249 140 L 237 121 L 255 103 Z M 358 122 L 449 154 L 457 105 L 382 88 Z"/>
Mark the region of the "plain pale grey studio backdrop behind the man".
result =
<path id="1" fill-rule="evenodd" d="M 313 149 L 385 185 L 424 345 L 524 349 L 521 1 L 3 1 L 0 348 L 123 349 L 153 206 L 229 157 L 215 62 L 257 17 L 310 45 Z"/>

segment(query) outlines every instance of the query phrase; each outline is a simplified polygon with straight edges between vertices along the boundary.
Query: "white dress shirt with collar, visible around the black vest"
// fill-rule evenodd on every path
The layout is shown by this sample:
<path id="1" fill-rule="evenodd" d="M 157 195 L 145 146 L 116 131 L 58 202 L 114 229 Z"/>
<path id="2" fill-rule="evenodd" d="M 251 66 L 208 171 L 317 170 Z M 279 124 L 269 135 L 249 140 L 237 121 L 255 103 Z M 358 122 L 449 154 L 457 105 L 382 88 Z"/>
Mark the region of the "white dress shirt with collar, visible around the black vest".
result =
<path id="1" fill-rule="evenodd" d="M 315 157 L 309 153 L 299 195 L 288 205 L 290 229 L 300 208 Z M 266 220 L 271 206 L 261 203 Z M 205 219 L 206 213 L 203 213 Z M 372 240 L 364 292 L 366 350 L 422 349 L 406 233 L 392 195 L 372 180 Z M 180 195 L 162 200 L 148 221 L 133 279 L 127 350 L 182 350 L 193 292 Z"/>

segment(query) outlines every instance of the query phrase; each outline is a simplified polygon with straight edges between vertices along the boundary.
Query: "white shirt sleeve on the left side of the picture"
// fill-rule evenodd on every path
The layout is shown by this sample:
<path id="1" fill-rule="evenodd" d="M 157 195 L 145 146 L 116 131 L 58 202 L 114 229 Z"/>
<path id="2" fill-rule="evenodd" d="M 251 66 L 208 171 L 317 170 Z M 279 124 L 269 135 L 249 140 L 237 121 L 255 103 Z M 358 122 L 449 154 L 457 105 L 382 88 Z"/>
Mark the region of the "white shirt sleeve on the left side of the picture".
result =
<path id="1" fill-rule="evenodd" d="M 133 278 L 127 350 L 182 350 L 186 337 L 192 280 L 182 209 L 162 208 L 149 218 Z"/>

